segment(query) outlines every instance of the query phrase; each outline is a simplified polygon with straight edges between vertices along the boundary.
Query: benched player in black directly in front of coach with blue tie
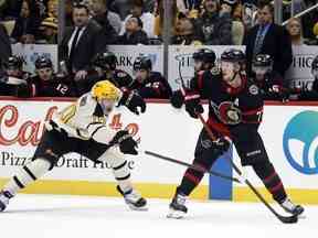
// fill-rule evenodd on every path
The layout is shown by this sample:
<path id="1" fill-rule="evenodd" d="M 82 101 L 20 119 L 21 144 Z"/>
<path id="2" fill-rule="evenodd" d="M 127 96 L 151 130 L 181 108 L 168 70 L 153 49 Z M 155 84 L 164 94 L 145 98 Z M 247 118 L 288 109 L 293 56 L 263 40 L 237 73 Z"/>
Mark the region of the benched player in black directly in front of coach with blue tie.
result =
<path id="1" fill-rule="evenodd" d="M 273 71 L 273 58 L 267 54 L 258 54 L 252 63 L 252 78 L 262 91 L 264 100 L 288 100 L 288 89 L 284 78 Z"/>

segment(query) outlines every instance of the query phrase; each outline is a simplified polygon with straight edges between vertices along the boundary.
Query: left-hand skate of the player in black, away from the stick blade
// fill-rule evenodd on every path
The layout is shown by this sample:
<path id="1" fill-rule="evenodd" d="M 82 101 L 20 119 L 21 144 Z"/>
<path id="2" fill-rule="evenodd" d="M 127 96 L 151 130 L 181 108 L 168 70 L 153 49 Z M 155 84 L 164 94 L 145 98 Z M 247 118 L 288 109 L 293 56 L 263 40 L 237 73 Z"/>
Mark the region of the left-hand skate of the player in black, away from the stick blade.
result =
<path id="1" fill-rule="evenodd" d="M 188 212 L 186 207 L 187 196 L 181 193 L 176 193 L 172 202 L 169 205 L 169 214 L 167 215 L 168 218 L 181 219 Z"/>

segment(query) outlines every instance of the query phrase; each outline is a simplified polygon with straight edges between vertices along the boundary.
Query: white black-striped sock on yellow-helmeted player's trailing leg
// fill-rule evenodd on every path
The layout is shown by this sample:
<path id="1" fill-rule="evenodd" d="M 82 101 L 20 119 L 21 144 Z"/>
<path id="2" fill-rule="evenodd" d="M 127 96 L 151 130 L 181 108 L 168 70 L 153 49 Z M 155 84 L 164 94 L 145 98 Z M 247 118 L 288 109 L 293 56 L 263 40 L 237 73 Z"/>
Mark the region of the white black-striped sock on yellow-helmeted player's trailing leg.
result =
<path id="1" fill-rule="evenodd" d="M 31 182 L 36 181 L 49 172 L 51 163 L 45 159 L 35 159 L 31 163 L 24 165 L 13 176 L 14 182 L 20 188 L 24 188 Z"/>

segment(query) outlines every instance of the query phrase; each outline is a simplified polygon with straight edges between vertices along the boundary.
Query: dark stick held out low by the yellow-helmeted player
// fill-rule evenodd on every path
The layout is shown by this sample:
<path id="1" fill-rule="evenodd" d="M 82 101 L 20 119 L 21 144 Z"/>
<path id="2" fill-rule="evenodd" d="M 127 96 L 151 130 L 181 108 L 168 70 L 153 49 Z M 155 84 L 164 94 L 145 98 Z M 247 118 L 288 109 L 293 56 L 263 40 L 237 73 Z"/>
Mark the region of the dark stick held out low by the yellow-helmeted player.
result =
<path id="1" fill-rule="evenodd" d="M 229 181 L 234 181 L 236 183 L 241 183 L 241 181 L 239 178 L 236 178 L 236 177 L 227 176 L 225 174 L 222 174 L 222 173 L 219 173 L 219 172 L 214 172 L 214 171 L 206 171 L 206 170 L 204 170 L 201 166 L 197 166 L 195 164 L 189 164 L 189 163 L 186 163 L 183 161 L 179 161 L 179 160 L 176 160 L 176 159 L 172 159 L 172 158 L 169 158 L 169 156 L 165 156 L 165 155 L 161 155 L 161 154 L 158 154 L 158 153 L 155 153 L 155 152 L 151 152 L 151 151 L 147 151 L 147 150 L 144 151 L 144 153 L 147 154 L 147 155 L 151 155 L 151 156 L 165 160 L 165 161 L 169 161 L 169 162 L 172 162 L 172 163 L 176 163 L 176 164 L 180 164 L 180 165 L 193 169 L 193 170 L 199 171 L 199 172 L 209 173 L 209 174 L 211 174 L 213 176 L 222 177 L 223 180 L 229 180 Z"/>

